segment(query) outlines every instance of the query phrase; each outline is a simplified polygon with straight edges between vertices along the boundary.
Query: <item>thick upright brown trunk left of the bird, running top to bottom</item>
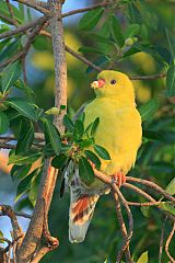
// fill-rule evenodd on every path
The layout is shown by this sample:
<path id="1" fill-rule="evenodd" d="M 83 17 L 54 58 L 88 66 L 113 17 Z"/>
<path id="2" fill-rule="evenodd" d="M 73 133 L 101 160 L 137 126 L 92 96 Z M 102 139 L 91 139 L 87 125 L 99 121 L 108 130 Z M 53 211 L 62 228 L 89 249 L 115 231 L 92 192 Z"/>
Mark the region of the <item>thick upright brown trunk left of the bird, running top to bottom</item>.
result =
<path id="1" fill-rule="evenodd" d="M 67 104 L 66 82 L 67 82 L 67 69 L 66 69 L 66 56 L 65 56 L 65 43 L 63 43 L 63 27 L 61 21 L 61 1 L 49 1 L 51 12 L 51 34 L 52 34 L 52 47 L 55 57 L 55 72 L 56 72 L 56 101 L 55 105 Z M 59 21 L 58 21 L 59 19 Z M 62 116 L 55 116 L 55 125 L 60 132 L 63 130 Z M 30 227 L 26 231 L 24 241 L 16 253 L 18 263 L 25 263 L 32 259 L 33 253 L 38 247 L 43 233 L 44 220 L 48 215 L 52 192 L 57 179 L 57 170 L 50 167 L 50 160 L 46 159 L 44 163 L 44 171 L 42 175 L 42 182 L 39 185 L 39 192 L 34 208 L 34 214 L 31 219 Z"/>

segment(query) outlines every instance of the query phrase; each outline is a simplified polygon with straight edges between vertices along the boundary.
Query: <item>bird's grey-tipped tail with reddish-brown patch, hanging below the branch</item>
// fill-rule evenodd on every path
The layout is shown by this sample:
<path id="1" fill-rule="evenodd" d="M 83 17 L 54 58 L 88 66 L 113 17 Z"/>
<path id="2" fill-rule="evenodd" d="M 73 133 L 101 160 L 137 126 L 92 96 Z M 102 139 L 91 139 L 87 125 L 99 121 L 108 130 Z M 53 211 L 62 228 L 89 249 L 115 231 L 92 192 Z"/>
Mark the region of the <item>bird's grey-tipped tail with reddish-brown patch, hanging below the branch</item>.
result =
<path id="1" fill-rule="evenodd" d="M 69 209 L 69 240 L 72 243 L 83 242 L 94 208 L 100 195 L 80 194 L 71 188 Z"/>

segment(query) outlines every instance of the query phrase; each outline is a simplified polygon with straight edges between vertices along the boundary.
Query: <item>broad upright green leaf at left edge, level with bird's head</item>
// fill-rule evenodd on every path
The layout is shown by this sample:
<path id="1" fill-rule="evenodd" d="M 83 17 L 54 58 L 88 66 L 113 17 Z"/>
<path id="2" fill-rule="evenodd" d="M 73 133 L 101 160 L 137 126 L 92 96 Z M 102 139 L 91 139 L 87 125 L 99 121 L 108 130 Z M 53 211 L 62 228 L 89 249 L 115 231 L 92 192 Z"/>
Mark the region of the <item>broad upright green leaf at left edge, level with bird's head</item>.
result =
<path id="1" fill-rule="evenodd" d="M 5 94 L 20 78 L 21 67 L 19 62 L 9 64 L 2 71 L 2 92 Z"/>

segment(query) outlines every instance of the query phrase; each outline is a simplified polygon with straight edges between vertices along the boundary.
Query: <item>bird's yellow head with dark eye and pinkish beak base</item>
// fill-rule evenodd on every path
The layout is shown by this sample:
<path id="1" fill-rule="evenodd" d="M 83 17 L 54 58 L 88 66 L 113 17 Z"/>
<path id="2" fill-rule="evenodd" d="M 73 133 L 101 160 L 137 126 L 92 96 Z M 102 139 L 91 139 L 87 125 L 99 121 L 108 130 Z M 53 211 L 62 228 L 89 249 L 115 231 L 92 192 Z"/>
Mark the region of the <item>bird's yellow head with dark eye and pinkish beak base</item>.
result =
<path id="1" fill-rule="evenodd" d="M 120 100 L 124 103 L 135 102 L 135 90 L 132 82 L 127 75 L 114 71 L 104 70 L 97 76 L 97 80 L 91 83 L 97 98 L 113 98 L 116 101 Z"/>

